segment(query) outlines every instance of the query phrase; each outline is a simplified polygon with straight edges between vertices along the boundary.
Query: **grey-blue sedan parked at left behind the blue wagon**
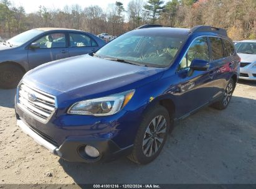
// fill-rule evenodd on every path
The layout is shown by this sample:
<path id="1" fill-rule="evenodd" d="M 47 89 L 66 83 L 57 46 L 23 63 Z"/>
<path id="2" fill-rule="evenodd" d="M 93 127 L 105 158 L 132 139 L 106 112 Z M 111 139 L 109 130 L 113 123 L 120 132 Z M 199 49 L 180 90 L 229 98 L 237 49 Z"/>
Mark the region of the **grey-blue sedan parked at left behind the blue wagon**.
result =
<path id="1" fill-rule="evenodd" d="M 0 43 L 0 88 L 15 88 L 29 70 L 46 62 L 93 53 L 106 43 L 82 30 L 38 28 Z"/>

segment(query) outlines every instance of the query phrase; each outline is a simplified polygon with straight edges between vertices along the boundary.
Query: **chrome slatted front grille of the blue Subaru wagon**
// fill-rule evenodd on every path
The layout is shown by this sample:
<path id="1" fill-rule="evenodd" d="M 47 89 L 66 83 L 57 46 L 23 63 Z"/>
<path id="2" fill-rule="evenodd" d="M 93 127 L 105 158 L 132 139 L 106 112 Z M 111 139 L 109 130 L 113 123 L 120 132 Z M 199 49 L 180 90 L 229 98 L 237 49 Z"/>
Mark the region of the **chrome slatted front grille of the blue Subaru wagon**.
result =
<path id="1" fill-rule="evenodd" d="M 30 88 L 22 83 L 19 86 L 19 105 L 39 119 L 46 120 L 55 109 L 54 96 Z"/>

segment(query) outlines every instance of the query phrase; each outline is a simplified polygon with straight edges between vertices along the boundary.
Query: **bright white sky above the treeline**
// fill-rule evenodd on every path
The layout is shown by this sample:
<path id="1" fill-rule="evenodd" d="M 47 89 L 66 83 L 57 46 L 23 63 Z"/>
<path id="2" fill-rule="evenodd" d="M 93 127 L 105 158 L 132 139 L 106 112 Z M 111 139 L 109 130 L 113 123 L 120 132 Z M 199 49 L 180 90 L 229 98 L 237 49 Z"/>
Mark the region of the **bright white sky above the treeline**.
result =
<path id="1" fill-rule="evenodd" d="M 126 9 L 129 0 L 118 0 L 123 2 Z M 103 10 L 107 9 L 108 4 L 115 4 L 116 0 L 11 0 L 15 6 L 23 6 L 26 13 L 36 12 L 39 6 L 49 7 L 51 9 L 62 9 L 65 5 L 79 4 L 82 8 L 98 5 Z"/>

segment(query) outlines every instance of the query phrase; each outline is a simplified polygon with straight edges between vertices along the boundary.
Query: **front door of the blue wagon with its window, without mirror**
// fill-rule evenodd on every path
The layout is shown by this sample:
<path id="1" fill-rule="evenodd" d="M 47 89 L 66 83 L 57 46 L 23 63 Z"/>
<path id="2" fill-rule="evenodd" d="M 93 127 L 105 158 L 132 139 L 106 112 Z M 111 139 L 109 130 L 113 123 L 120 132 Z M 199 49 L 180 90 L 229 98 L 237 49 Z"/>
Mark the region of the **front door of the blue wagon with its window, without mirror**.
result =
<path id="1" fill-rule="evenodd" d="M 189 66 L 194 59 L 210 61 L 207 37 L 194 40 L 179 65 L 176 75 L 179 81 L 176 91 L 176 96 L 178 96 L 176 104 L 179 104 L 176 113 L 178 118 L 208 103 L 215 93 L 215 88 L 211 86 L 214 79 L 211 68 L 206 71 L 193 71 L 192 75 L 188 74 Z"/>

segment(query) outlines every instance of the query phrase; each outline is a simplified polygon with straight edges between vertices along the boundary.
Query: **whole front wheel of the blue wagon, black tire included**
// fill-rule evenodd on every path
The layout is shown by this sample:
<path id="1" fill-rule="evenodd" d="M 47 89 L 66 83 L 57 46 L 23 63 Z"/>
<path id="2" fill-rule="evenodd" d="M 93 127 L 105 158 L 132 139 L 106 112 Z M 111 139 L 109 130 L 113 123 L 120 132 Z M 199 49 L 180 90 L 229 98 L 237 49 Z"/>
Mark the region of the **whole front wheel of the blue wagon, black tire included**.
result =
<path id="1" fill-rule="evenodd" d="M 153 131 L 153 121 L 156 123 L 156 128 L 159 127 L 158 131 L 160 132 L 157 132 L 157 129 L 155 132 Z M 164 121 L 166 122 L 165 124 Z M 156 159 L 166 142 L 169 124 L 170 118 L 167 109 L 160 105 L 149 109 L 143 116 L 143 121 L 141 121 L 136 134 L 133 150 L 128 155 L 128 159 L 136 164 L 148 164 Z M 151 133 L 151 136 L 149 133 Z"/>

